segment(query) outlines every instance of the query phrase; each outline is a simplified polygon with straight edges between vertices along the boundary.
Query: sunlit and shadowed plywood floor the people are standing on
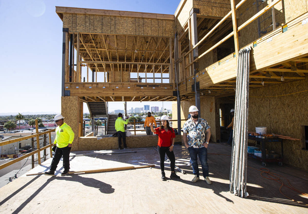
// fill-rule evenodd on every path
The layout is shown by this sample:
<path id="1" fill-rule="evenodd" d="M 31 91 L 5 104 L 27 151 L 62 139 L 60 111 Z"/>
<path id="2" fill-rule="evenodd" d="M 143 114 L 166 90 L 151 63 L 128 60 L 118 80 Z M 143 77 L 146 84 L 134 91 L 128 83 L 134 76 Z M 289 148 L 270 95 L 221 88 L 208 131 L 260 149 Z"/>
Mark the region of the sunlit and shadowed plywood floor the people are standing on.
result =
<path id="1" fill-rule="evenodd" d="M 113 152 L 113 153 L 111 153 Z M 155 168 L 134 169 L 61 177 L 60 161 L 56 176 L 22 176 L 2 187 L 0 212 L 9 213 L 307 213 L 308 207 L 286 198 L 280 184 L 248 168 L 247 198 L 229 193 L 231 147 L 219 143 L 209 146 L 208 162 L 212 185 L 204 180 L 191 183 L 192 168 L 186 167 L 187 150 L 175 146 L 176 165 L 186 174 L 180 180 L 160 180 L 159 157 L 153 147 L 82 151 L 71 154 L 71 170 L 99 169 L 129 165 L 156 164 Z M 51 159 L 29 173 L 47 171 Z M 249 159 L 259 169 L 259 161 Z M 308 192 L 305 171 L 269 164 L 271 172 L 290 180 L 294 188 Z M 201 170 L 201 166 L 200 166 Z M 165 162 L 167 177 L 170 167 Z M 284 180 L 285 183 L 287 183 Z M 284 187 L 287 196 L 308 204 L 308 198 Z"/>

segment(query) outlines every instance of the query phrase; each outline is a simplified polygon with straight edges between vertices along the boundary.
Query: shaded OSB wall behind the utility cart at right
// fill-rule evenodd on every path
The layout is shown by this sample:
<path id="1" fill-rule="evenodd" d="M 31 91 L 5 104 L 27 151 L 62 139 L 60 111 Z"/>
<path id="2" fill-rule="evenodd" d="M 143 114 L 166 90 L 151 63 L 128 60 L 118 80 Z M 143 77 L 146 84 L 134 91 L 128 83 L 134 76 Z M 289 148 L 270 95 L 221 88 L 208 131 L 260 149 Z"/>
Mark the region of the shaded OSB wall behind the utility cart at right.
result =
<path id="1" fill-rule="evenodd" d="M 308 91 L 305 91 L 307 88 L 308 79 L 306 78 L 250 90 L 249 130 L 254 131 L 256 126 L 266 126 L 268 133 L 301 139 L 301 126 L 308 125 Z M 299 91 L 305 92 L 296 93 Z M 302 142 L 283 140 L 283 148 L 284 163 L 308 170 L 306 164 L 308 151 L 302 150 Z M 274 150 L 277 154 L 281 153 L 279 143 L 269 143 L 267 149 Z"/>

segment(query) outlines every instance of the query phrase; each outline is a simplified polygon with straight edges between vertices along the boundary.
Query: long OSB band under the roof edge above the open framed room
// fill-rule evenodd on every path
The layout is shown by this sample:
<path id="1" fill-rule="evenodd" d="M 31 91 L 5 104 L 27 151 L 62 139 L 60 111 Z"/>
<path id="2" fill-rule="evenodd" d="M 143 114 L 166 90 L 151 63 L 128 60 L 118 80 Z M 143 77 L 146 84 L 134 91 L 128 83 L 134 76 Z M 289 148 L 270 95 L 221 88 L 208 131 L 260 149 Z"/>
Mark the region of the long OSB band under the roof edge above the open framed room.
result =
<path id="1" fill-rule="evenodd" d="M 175 30 L 174 25 L 174 20 L 164 19 L 63 14 L 63 27 L 69 28 L 71 32 L 80 33 L 173 37 Z"/>

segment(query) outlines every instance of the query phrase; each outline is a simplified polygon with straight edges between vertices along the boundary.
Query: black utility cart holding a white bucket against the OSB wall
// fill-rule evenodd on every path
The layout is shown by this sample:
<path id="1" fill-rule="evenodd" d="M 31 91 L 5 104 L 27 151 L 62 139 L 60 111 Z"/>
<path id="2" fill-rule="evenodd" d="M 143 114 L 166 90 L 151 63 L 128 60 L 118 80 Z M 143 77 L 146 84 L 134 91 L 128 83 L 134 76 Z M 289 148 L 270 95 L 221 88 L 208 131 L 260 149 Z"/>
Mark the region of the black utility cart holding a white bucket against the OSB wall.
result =
<path id="1" fill-rule="evenodd" d="M 257 138 L 255 136 L 248 135 L 249 140 L 255 140 L 257 142 L 261 143 L 261 157 L 258 157 L 254 154 L 247 153 L 248 157 L 255 158 L 257 160 L 260 160 L 262 162 L 262 166 L 266 166 L 266 162 L 278 162 L 279 166 L 282 166 L 283 161 L 283 143 L 281 138 Z M 266 143 L 281 143 L 281 158 L 266 158 Z"/>

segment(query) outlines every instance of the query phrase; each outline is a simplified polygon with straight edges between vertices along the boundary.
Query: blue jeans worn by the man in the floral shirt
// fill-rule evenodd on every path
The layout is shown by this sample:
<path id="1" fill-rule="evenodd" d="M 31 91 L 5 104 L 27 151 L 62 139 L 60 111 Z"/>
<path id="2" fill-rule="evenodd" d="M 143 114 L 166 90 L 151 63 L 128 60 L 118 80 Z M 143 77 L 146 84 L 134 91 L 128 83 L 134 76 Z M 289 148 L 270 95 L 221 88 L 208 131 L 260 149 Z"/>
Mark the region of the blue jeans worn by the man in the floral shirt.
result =
<path id="1" fill-rule="evenodd" d="M 188 152 L 189 152 L 190 158 L 193 161 L 192 162 L 193 174 L 199 177 L 199 167 L 198 167 L 198 160 L 197 160 L 199 156 L 203 177 L 209 176 L 208 149 L 205 147 L 202 147 L 202 148 L 188 147 Z"/>

